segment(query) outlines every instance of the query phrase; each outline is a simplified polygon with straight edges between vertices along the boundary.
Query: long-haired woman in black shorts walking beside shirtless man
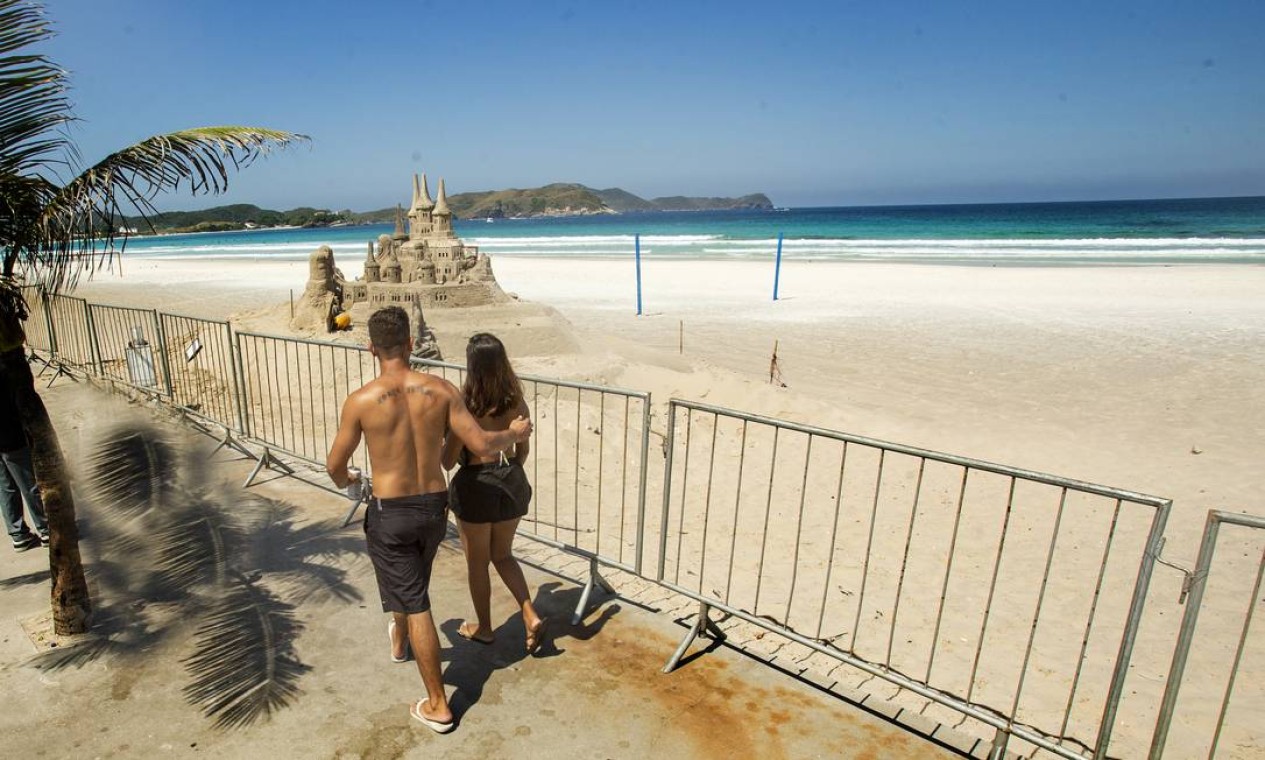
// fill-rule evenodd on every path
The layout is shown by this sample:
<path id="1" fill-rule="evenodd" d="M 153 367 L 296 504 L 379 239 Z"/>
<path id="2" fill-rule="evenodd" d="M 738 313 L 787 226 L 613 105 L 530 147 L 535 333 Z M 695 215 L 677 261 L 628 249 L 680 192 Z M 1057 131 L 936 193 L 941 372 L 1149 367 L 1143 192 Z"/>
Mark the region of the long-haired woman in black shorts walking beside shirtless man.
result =
<path id="1" fill-rule="evenodd" d="M 488 333 L 474 334 L 466 345 L 462 395 L 484 430 L 505 430 L 515 417 L 530 416 L 522 398 L 522 384 L 510 365 L 505 345 Z M 448 486 L 448 497 L 466 550 L 471 601 L 474 602 L 477 618 L 477 622 L 463 622 L 457 631 L 471 641 L 492 642 L 492 582 L 487 570 L 492 564 L 522 608 L 528 651 L 534 653 L 540 646 L 545 620 L 536 615 L 522 568 L 511 553 L 519 520 L 528 513 L 531 501 L 531 486 L 522 470 L 526 458 L 526 441 L 517 444 L 511 453 L 502 451 L 491 459 L 474 457 L 454 435 L 448 436 L 444 446 L 444 468 L 452 469 L 457 463 L 462 465 Z"/>

